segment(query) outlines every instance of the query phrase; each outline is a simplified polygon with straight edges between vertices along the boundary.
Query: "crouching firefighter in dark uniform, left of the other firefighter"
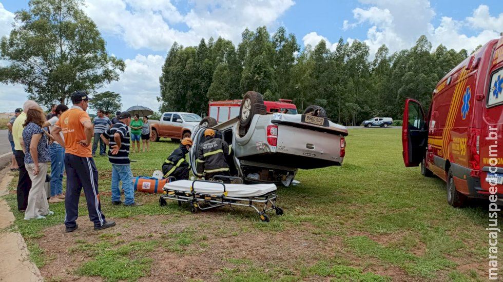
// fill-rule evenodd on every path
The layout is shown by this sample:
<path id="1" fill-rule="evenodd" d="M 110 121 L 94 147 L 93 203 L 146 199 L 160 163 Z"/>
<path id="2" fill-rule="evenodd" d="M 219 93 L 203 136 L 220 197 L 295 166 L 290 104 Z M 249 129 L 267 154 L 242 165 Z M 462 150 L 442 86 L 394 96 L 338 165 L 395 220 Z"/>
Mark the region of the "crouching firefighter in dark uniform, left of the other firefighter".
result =
<path id="1" fill-rule="evenodd" d="M 177 180 L 188 179 L 190 165 L 185 160 L 185 155 L 192 147 L 192 139 L 185 137 L 180 147 L 175 149 L 162 165 L 164 178 L 174 176 Z"/>

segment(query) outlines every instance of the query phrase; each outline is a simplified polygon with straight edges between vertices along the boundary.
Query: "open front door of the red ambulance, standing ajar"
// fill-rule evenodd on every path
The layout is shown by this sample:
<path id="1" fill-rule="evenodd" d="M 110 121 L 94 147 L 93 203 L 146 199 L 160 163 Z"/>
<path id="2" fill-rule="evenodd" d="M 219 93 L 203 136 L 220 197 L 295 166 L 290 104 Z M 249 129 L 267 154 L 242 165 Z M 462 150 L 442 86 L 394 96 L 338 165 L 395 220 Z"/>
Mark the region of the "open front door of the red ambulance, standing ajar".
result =
<path id="1" fill-rule="evenodd" d="M 424 111 L 417 100 L 405 99 L 402 124 L 402 148 L 405 167 L 417 167 L 421 163 L 428 144 L 428 129 Z"/>

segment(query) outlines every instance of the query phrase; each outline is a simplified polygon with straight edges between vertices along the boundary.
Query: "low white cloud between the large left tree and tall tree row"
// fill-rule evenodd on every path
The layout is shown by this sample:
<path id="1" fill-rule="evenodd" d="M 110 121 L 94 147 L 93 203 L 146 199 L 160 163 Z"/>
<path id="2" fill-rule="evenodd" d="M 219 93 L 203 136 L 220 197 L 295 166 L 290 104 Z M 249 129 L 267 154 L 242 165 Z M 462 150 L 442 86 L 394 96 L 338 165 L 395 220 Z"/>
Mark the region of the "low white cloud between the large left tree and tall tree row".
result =
<path id="1" fill-rule="evenodd" d="M 126 59 L 126 70 L 118 82 L 112 82 L 98 92 L 113 91 L 121 94 L 123 110 L 141 105 L 159 111 L 159 76 L 164 58 L 159 55 L 140 55 Z"/>

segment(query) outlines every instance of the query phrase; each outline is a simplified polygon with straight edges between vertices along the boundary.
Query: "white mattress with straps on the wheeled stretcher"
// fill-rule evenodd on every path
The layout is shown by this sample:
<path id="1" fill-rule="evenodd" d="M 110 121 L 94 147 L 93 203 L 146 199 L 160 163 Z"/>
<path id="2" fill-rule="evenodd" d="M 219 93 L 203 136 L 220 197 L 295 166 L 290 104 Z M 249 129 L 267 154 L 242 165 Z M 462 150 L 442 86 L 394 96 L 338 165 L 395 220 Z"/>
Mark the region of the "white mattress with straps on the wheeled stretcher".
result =
<path id="1" fill-rule="evenodd" d="M 192 186 L 193 181 L 191 180 L 177 180 L 173 182 L 166 183 L 164 185 L 165 189 L 181 191 L 190 193 L 190 186 Z M 207 194 L 207 195 L 222 195 L 224 192 L 224 186 L 221 183 L 211 183 L 211 182 L 195 182 L 194 190 L 197 193 Z M 227 191 L 227 197 L 235 198 L 250 198 L 266 195 L 276 191 L 276 185 L 274 184 L 225 184 L 225 190 Z"/>

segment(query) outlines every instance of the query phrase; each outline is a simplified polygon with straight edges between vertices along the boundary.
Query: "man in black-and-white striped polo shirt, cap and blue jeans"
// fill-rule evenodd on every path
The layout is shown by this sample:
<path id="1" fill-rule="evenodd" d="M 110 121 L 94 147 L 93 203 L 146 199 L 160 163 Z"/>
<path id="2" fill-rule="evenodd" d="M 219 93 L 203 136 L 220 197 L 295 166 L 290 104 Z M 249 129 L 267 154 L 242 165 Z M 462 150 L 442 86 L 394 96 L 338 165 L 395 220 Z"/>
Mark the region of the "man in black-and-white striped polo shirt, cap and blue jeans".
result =
<path id="1" fill-rule="evenodd" d="M 108 160 L 112 164 L 112 204 L 123 204 L 126 207 L 137 207 L 143 204 L 134 202 L 133 174 L 129 165 L 129 124 L 131 114 L 122 112 L 119 122 L 105 131 L 101 138 L 110 146 Z M 124 203 L 121 201 L 119 182 L 122 180 Z"/>

